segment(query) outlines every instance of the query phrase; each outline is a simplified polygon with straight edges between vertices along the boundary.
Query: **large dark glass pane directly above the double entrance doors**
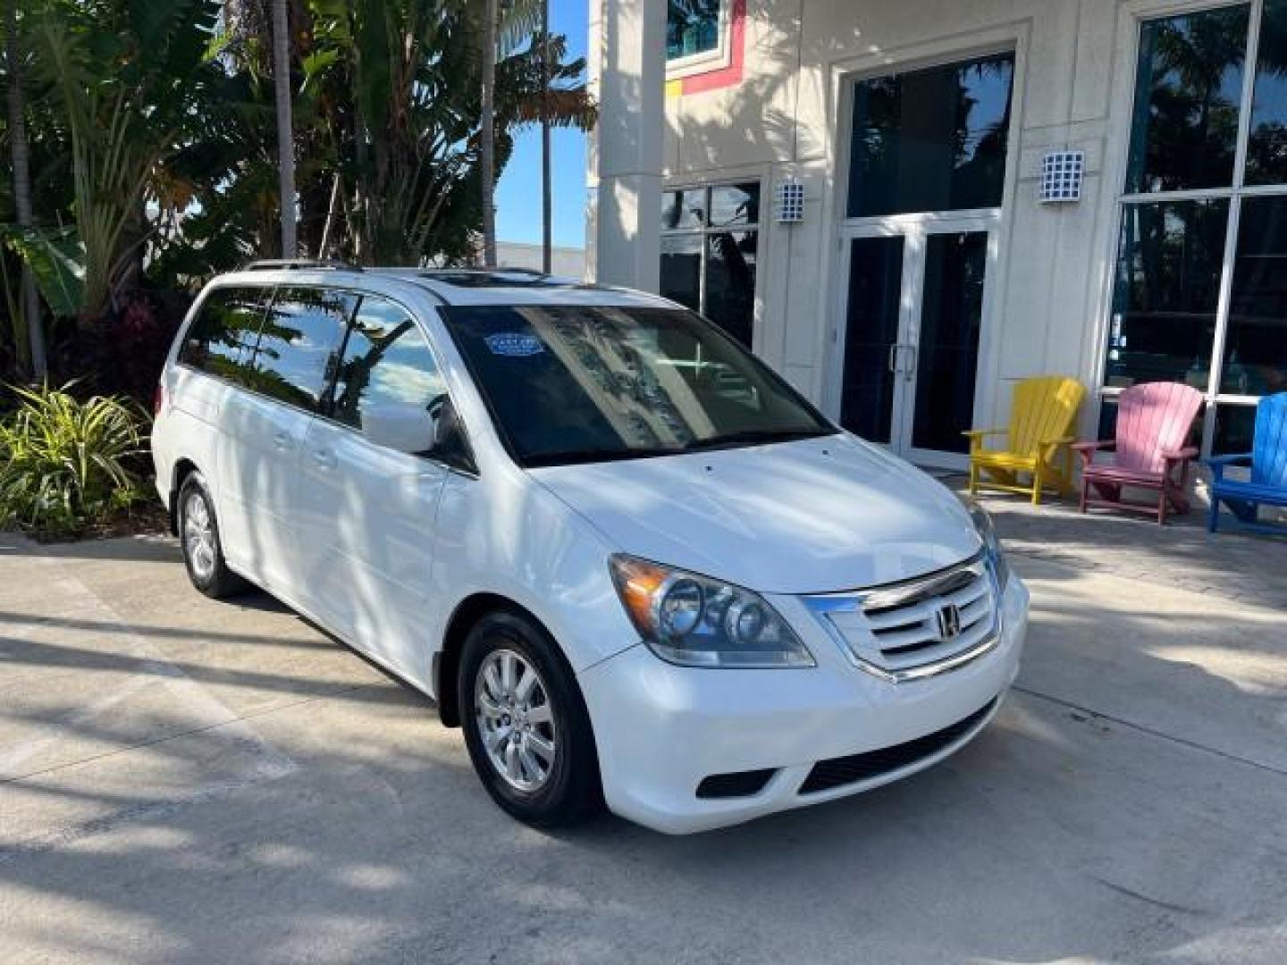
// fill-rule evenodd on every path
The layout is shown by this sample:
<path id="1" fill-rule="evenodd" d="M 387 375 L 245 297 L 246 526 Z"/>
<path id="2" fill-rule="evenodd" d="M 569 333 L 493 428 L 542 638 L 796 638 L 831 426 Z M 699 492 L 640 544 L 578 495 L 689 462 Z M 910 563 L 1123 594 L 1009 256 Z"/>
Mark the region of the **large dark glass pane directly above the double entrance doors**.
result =
<path id="1" fill-rule="evenodd" d="M 997 207 L 1014 55 L 860 82 L 849 217 Z"/>

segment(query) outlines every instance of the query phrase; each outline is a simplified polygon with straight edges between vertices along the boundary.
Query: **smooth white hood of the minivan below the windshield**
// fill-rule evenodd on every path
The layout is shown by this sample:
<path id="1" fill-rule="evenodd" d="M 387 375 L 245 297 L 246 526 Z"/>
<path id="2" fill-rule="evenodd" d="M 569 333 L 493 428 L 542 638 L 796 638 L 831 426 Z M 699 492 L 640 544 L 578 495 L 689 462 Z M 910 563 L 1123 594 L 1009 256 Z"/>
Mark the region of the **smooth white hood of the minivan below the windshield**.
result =
<path id="1" fill-rule="evenodd" d="M 893 583 L 981 548 L 943 485 L 847 434 L 532 475 L 623 552 L 763 593 Z"/>

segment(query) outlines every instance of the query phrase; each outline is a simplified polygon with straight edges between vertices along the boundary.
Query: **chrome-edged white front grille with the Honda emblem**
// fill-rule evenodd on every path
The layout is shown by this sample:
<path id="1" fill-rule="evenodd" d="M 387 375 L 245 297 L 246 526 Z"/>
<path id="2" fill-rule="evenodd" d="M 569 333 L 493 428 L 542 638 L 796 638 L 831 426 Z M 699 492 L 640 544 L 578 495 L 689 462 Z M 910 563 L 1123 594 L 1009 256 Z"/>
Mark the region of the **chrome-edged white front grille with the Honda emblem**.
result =
<path id="1" fill-rule="evenodd" d="M 959 666 L 997 637 L 996 585 L 982 555 L 928 576 L 804 603 L 853 663 L 892 682 Z"/>

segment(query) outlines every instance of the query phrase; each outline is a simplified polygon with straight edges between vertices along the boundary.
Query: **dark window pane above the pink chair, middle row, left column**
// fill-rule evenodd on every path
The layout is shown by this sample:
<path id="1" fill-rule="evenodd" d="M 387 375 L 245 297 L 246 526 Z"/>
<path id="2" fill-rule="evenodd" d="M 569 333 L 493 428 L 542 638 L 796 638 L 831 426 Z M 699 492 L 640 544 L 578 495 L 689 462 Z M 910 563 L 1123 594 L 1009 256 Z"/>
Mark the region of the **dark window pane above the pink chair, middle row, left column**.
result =
<path id="1" fill-rule="evenodd" d="M 1228 216 L 1223 199 L 1124 208 L 1107 385 L 1206 389 Z"/>

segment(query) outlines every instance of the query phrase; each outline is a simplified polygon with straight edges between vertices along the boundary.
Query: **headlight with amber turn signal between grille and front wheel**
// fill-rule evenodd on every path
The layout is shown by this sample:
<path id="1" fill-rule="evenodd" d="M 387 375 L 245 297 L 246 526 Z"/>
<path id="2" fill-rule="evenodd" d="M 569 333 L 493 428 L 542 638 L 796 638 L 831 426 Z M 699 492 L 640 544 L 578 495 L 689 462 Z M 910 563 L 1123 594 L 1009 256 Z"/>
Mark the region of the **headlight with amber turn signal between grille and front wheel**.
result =
<path id="1" fill-rule="evenodd" d="M 757 593 L 616 555 L 613 583 L 644 642 L 683 666 L 815 666 L 792 628 Z"/>

